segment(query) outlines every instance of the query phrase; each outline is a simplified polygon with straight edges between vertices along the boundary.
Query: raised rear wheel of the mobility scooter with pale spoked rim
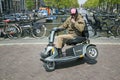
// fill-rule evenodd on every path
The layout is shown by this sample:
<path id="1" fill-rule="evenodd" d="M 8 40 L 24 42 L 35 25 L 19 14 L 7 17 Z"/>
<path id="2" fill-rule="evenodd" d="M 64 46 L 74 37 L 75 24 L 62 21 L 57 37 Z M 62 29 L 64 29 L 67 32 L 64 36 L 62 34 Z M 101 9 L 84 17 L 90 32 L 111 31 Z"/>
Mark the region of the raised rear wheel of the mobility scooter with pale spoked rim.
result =
<path id="1" fill-rule="evenodd" d="M 98 50 L 95 46 L 88 46 L 86 49 L 86 57 L 95 60 L 98 57 Z"/>

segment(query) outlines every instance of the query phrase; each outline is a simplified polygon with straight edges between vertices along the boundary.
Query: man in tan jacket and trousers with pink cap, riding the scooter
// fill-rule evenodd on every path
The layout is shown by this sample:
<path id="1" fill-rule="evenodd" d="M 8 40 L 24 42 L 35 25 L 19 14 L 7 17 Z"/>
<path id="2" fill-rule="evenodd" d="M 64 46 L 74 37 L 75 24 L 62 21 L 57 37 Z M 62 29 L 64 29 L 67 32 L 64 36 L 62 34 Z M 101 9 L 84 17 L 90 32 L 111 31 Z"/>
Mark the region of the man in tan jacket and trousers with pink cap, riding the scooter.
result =
<path id="1" fill-rule="evenodd" d="M 61 29 L 66 29 L 67 34 L 57 36 L 56 47 L 58 49 L 59 57 L 62 56 L 62 48 L 66 40 L 73 39 L 77 36 L 82 35 L 82 31 L 85 27 L 85 22 L 83 17 L 78 14 L 76 8 L 70 10 L 71 16 L 59 27 Z"/>

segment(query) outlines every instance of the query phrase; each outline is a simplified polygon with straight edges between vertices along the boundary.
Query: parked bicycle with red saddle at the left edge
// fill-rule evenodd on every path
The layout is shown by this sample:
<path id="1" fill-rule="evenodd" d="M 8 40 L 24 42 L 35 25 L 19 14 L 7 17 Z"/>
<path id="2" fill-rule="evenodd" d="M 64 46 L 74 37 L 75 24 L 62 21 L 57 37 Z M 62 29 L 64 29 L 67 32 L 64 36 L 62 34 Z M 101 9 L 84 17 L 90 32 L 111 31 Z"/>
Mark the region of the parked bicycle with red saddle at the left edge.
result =
<path id="1" fill-rule="evenodd" d="M 17 39 L 20 37 L 20 30 L 14 23 L 9 23 L 10 20 L 6 19 L 0 22 L 0 36 L 8 37 L 9 39 Z"/>

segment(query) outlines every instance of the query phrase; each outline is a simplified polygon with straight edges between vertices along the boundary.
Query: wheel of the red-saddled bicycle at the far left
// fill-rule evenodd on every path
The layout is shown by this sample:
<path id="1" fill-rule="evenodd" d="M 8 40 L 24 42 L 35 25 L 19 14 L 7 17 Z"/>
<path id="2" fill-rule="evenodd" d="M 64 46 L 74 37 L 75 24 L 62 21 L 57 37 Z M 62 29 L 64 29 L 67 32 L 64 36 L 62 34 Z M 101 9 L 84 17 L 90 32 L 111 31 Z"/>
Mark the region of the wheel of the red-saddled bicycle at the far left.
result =
<path id="1" fill-rule="evenodd" d="M 21 36 L 21 31 L 15 24 L 8 24 L 5 27 L 5 33 L 9 39 L 16 39 Z"/>

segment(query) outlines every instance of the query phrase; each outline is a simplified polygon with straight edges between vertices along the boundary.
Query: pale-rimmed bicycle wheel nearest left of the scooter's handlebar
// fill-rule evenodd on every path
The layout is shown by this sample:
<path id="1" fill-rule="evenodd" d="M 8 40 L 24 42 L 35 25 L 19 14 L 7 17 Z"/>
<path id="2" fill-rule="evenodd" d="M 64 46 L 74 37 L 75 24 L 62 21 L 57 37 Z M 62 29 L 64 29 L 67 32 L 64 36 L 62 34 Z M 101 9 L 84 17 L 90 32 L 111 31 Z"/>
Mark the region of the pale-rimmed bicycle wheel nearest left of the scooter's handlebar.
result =
<path id="1" fill-rule="evenodd" d="M 33 28 L 33 37 L 38 38 L 38 37 L 45 37 L 46 35 L 46 30 L 47 28 L 45 27 L 44 24 L 39 25 L 38 27 Z"/>

